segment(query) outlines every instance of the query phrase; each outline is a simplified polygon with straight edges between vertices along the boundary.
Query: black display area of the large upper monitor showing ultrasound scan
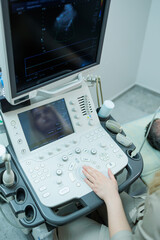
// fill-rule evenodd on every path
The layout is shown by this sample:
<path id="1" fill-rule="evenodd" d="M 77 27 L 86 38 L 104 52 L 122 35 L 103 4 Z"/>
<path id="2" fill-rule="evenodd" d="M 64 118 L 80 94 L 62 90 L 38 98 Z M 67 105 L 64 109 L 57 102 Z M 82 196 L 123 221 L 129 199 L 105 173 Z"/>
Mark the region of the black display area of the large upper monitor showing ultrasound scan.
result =
<path id="1" fill-rule="evenodd" d="M 18 92 L 96 63 L 104 0 L 9 2 Z"/>

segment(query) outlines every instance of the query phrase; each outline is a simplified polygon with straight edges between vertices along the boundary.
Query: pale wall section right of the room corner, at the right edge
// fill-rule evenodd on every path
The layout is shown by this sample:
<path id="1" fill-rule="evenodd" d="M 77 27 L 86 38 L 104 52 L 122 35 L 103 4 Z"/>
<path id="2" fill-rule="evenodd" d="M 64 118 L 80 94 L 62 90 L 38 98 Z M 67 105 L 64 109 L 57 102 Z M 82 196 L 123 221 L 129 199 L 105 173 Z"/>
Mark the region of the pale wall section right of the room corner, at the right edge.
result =
<path id="1" fill-rule="evenodd" d="M 152 1 L 136 83 L 160 93 L 159 0 Z"/>

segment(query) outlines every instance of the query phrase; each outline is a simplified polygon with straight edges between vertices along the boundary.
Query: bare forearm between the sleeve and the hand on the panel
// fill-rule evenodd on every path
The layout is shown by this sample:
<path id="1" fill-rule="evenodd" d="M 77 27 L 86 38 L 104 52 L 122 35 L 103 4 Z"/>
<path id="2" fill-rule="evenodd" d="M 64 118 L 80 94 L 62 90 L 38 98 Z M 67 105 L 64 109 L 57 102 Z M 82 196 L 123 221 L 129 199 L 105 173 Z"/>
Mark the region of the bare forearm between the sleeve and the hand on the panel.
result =
<path id="1" fill-rule="evenodd" d="M 128 224 L 123 205 L 118 192 L 115 192 L 112 197 L 105 200 L 108 214 L 108 226 L 110 237 L 122 230 L 131 231 Z"/>

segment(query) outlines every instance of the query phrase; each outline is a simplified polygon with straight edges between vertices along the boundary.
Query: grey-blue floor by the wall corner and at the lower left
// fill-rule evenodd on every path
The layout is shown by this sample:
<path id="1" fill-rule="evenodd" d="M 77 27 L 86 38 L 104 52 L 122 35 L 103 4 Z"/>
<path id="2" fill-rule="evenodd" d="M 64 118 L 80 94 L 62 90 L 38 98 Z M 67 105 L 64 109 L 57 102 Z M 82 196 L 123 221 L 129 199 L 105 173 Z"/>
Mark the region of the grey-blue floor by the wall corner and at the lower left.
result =
<path id="1" fill-rule="evenodd" d="M 135 86 L 114 100 L 113 117 L 121 124 L 133 121 L 153 113 L 160 105 L 160 95 Z M 15 220 L 7 204 L 2 204 L 5 215 L 15 224 Z M 20 229 L 12 227 L 0 212 L 0 240 L 26 240 Z"/>

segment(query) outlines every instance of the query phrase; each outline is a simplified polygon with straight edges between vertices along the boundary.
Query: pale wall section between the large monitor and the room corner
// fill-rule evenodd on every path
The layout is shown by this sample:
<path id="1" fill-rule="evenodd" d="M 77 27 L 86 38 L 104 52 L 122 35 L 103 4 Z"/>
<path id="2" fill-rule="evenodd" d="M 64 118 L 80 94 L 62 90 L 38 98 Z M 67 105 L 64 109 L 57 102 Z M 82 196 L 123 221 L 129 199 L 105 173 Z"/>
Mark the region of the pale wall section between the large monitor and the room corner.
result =
<path id="1" fill-rule="evenodd" d="M 135 84 L 151 0 L 111 0 L 101 65 L 104 99 Z M 95 88 L 91 89 L 96 103 Z"/>

